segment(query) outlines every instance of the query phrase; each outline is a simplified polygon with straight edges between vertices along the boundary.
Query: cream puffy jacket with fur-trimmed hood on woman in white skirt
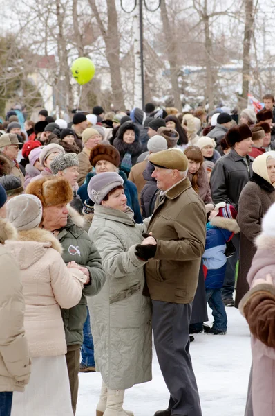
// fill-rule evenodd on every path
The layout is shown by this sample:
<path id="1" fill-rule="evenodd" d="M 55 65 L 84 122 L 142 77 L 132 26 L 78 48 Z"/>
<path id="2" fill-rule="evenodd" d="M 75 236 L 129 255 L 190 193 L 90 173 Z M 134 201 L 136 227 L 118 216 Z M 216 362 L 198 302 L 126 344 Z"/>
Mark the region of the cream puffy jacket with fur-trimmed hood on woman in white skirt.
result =
<path id="1" fill-rule="evenodd" d="M 21 270 L 30 356 L 66 354 L 60 307 L 78 304 L 86 277 L 80 270 L 66 267 L 60 255 L 61 245 L 45 229 L 21 231 L 17 241 L 7 241 L 6 247 Z"/>

